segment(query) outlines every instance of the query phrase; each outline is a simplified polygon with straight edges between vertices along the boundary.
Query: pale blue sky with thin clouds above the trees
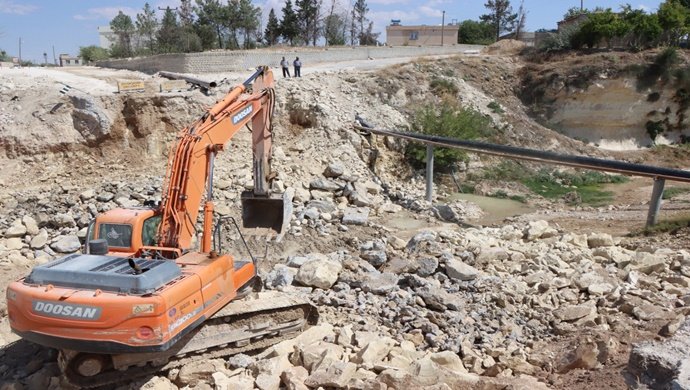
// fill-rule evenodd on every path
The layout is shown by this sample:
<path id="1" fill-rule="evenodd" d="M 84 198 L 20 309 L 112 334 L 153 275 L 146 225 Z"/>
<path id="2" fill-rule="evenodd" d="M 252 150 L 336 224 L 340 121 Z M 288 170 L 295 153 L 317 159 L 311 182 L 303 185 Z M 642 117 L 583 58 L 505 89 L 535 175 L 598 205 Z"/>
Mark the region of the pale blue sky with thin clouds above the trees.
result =
<path id="1" fill-rule="evenodd" d="M 332 0 L 322 0 L 330 5 Z M 337 0 L 342 9 L 352 0 Z M 634 8 L 656 11 L 662 0 L 628 0 Z M 136 15 L 146 1 L 135 0 L 0 0 L 0 49 L 18 54 L 22 39 L 22 58 L 42 62 L 43 53 L 52 59 L 52 48 L 60 53 L 77 54 L 80 46 L 98 44 L 97 27 L 107 25 L 118 10 Z M 179 0 L 149 0 L 154 7 L 176 6 Z M 294 3 L 294 1 L 293 1 Z M 441 11 L 446 22 L 478 19 L 486 13 L 485 0 L 368 0 L 369 18 L 375 31 L 385 39 L 385 26 L 391 19 L 403 24 L 440 24 Z M 512 0 L 514 10 L 519 0 Z M 584 0 L 586 8 L 610 7 L 614 10 L 625 0 Z M 264 18 L 271 8 L 280 14 L 284 0 L 254 0 L 262 7 Z M 568 8 L 580 6 L 580 0 L 524 0 L 527 29 L 555 28 Z M 265 25 L 265 24 L 264 24 Z"/>

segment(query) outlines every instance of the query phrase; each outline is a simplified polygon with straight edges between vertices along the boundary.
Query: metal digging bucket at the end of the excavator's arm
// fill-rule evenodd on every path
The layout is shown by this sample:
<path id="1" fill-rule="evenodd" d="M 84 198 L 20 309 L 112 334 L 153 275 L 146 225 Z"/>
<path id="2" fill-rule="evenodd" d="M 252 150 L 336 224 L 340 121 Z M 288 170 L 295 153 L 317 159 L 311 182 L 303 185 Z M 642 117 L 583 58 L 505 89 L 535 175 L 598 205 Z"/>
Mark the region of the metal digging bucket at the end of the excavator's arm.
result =
<path id="1" fill-rule="evenodd" d="M 271 229 L 278 233 L 279 238 L 282 237 L 292 218 L 293 196 L 290 191 L 269 196 L 243 192 L 242 225 L 249 229 Z"/>

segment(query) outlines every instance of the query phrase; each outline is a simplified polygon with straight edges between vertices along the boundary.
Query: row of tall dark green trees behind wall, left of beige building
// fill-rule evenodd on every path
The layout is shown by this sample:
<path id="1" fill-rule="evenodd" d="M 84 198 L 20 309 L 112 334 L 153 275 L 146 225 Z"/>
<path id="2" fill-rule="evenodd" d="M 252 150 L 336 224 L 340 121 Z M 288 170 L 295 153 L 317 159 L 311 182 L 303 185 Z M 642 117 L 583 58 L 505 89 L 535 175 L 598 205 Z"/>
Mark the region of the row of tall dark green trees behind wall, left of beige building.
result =
<path id="1" fill-rule="evenodd" d="M 261 8 L 251 0 L 181 0 L 165 8 L 158 20 L 149 3 L 133 19 L 120 11 L 110 21 L 113 45 L 109 50 L 82 47 L 87 61 L 157 53 L 196 52 L 211 49 L 250 49 L 264 45 L 372 45 L 379 34 L 367 18 L 366 0 L 350 9 L 338 0 L 285 0 L 282 16 L 271 9 L 262 28 Z"/>

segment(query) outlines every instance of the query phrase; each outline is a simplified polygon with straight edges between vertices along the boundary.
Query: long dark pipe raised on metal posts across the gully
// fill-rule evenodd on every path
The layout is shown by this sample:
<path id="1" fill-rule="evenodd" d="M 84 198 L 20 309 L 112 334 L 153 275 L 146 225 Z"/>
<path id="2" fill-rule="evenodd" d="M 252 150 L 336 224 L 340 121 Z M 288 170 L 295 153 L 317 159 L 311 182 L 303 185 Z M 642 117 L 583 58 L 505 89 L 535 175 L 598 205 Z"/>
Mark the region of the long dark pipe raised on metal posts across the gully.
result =
<path id="1" fill-rule="evenodd" d="M 538 161 L 549 164 L 567 165 L 571 167 L 592 169 L 605 172 L 616 172 L 630 176 L 645 176 L 655 179 L 666 179 L 690 183 L 690 171 L 685 171 L 682 169 L 655 167 L 652 165 L 643 164 L 632 164 L 623 161 L 606 160 L 603 158 L 574 156 L 570 154 L 560 154 L 542 150 L 518 148 L 515 146 L 490 144 L 487 142 L 466 141 L 454 138 L 438 137 L 435 135 L 410 133 L 396 130 L 375 129 L 373 128 L 373 126 L 366 123 L 366 121 L 363 118 L 356 116 L 356 119 L 357 121 L 359 121 L 361 125 L 355 125 L 355 128 L 360 131 L 396 138 L 403 138 L 410 141 L 422 142 L 427 145 L 463 149 L 476 153 L 491 154 L 495 156 L 503 156 L 522 160 Z"/>

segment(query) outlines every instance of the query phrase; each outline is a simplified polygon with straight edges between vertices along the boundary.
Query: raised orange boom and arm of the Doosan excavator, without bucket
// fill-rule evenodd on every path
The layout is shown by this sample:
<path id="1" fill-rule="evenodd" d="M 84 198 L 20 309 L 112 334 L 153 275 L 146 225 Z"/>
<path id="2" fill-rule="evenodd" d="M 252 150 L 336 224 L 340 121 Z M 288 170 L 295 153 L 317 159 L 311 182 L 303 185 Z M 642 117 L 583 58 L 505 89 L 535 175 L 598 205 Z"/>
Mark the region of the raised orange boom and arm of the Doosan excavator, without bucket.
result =
<path id="1" fill-rule="evenodd" d="M 253 85 L 252 85 L 253 84 Z M 275 105 L 273 74 L 260 67 L 234 87 L 189 127 L 174 145 L 161 199 L 159 246 L 188 250 L 196 233 L 199 206 L 204 201 L 201 252 L 211 249 L 213 220 L 213 164 L 216 154 L 251 122 L 254 197 L 270 200 L 272 118 Z M 250 91 L 253 93 L 247 93 Z M 274 206 L 275 202 L 271 202 Z M 282 210 L 276 218 L 282 218 Z M 271 220 L 272 218 L 268 218 Z"/>

